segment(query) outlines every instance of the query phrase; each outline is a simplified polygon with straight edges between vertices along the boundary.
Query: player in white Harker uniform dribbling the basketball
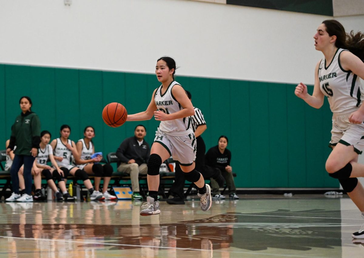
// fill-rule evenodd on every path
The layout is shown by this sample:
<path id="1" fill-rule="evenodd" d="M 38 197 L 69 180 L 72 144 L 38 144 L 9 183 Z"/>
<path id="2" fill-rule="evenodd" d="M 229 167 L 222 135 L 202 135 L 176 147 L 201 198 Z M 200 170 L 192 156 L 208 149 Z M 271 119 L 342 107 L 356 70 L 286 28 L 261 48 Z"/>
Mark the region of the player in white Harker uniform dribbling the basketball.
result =
<path id="1" fill-rule="evenodd" d="M 147 110 L 127 117 L 127 121 L 143 121 L 154 116 L 155 120 L 161 121 L 150 150 L 147 172 L 149 196 L 147 202 L 142 205 L 142 216 L 161 213 L 157 201 L 159 167 L 170 156 L 178 161 L 185 172 L 186 180 L 197 186 L 201 209 L 207 211 L 211 207 L 210 186 L 205 184 L 203 176 L 195 170 L 196 139 L 189 118 L 195 111 L 185 90 L 174 81 L 175 70 L 176 63 L 172 58 L 159 58 L 155 74 L 162 85 L 153 91 Z"/>

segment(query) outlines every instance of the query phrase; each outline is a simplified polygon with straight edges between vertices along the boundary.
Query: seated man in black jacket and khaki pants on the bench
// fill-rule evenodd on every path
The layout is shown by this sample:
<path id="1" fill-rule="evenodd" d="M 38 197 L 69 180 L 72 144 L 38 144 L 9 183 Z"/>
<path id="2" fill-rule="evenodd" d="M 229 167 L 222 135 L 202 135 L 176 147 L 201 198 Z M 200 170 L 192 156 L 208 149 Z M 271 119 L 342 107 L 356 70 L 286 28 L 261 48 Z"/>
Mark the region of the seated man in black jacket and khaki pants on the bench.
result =
<path id="1" fill-rule="evenodd" d="M 137 125 L 134 137 L 126 138 L 116 150 L 119 158 L 118 171 L 130 174 L 132 200 L 142 200 L 139 193 L 139 174 L 147 174 L 147 164 L 150 156 L 149 144 L 144 140 L 147 130 L 144 125 Z"/>

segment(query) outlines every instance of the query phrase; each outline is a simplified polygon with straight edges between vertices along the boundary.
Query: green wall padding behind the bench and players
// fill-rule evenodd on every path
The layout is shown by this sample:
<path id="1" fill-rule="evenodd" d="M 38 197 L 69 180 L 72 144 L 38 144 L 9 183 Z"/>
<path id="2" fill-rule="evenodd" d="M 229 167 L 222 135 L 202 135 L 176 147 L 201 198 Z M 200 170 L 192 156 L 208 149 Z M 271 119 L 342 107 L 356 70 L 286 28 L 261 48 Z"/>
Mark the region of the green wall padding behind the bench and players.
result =
<path id="1" fill-rule="evenodd" d="M 296 85 L 285 83 L 182 76 L 176 81 L 204 114 L 206 150 L 217 145 L 219 136 L 229 138 L 237 187 L 339 187 L 325 172 L 332 116 L 326 100 L 314 109 L 294 95 Z M 1 144 L 5 148 L 23 95 L 32 98 L 41 129 L 49 130 L 52 139 L 68 124 L 76 142 L 91 125 L 95 150 L 106 157 L 143 124 L 152 144 L 159 124 L 154 118 L 111 128 L 101 113 L 110 102 L 122 103 L 129 114 L 142 112 L 158 86 L 153 74 L 0 64 Z"/>

